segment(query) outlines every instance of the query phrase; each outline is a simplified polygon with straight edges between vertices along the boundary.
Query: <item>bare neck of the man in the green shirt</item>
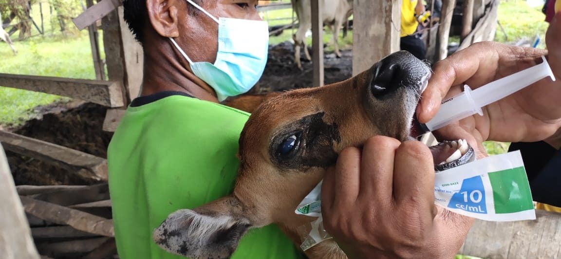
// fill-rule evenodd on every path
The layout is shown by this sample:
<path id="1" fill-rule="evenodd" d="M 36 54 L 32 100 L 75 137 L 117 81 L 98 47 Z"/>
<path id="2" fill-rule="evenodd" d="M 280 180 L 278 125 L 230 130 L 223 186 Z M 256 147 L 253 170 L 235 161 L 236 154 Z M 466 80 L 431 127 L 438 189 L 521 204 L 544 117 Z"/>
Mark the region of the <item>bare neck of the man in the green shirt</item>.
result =
<path id="1" fill-rule="evenodd" d="M 201 100 L 218 103 L 214 90 L 187 70 L 189 64 L 183 57 L 174 52 L 172 55 L 157 57 L 150 53 L 158 52 L 145 52 L 141 96 L 161 91 L 180 91 Z"/>

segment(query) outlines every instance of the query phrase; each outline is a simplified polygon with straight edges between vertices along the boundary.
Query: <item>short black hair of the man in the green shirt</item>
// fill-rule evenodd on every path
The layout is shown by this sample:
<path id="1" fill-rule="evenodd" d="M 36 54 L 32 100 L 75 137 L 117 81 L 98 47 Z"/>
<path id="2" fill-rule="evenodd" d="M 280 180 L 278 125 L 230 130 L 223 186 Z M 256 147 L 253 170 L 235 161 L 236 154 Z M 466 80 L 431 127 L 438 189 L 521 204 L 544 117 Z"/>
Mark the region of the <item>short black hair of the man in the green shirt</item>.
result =
<path id="1" fill-rule="evenodd" d="M 125 0 L 123 1 L 123 19 L 127 22 L 128 28 L 135 35 L 135 39 L 141 45 L 144 45 L 144 26 L 149 23 L 148 9 L 146 8 L 147 0 Z M 200 4 L 201 0 L 192 0 L 196 4 Z M 197 8 L 187 4 L 188 11 L 191 15 L 196 13 Z"/>

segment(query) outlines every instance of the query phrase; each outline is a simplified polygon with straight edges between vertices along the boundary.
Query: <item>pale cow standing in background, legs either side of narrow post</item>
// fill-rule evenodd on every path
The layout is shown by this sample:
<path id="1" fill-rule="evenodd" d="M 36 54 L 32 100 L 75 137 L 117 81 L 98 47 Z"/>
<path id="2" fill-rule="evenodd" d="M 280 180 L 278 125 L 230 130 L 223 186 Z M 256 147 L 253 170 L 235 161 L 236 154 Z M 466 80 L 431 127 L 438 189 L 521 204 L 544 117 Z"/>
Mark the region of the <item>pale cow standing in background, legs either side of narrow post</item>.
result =
<path id="1" fill-rule="evenodd" d="M 337 39 L 339 37 L 339 30 L 343 22 L 347 21 L 348 17 L 352 14 L 353 0 L 320 0 L 323 1 L 323 10 L 321 10 L 321 17 L 323 18 L 324 25 L 330 26 L 333 31 L 333 44 L 335 46 L 335 55 L 341 57 L 339 52 L 339 44 Z M 311 0 L 291 0 L 292 8 L 298 17 L 298 30 L 292 36 L 294 40 L 294 61 L 298 68 L 302 69 L 300 63 L 300 48 L 304 45 L 304 54 L 308 60 L 311 60 L 310 53 L 306 47 L 306 32 L 312 27 L 311 22 Z"/>

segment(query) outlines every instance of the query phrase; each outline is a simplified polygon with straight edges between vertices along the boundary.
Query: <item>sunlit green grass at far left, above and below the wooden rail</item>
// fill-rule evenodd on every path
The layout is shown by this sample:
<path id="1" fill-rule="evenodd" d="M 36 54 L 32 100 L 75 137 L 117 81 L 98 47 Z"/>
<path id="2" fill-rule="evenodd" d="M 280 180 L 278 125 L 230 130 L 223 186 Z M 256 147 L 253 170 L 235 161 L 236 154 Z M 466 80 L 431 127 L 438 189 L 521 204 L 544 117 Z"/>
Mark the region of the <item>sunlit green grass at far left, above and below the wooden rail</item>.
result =
<path id="1" fill-rule="evenodd" d="M 17 55 L 0 43 L 0 73 L 95 79 L 89 42 L 87 31 L 71 38 L 34 37 L 14 42 Z M 34 116 L 34 107 L 58 100 L 68 98 L 0 86 L 0 125 L 25 122 Z"/>

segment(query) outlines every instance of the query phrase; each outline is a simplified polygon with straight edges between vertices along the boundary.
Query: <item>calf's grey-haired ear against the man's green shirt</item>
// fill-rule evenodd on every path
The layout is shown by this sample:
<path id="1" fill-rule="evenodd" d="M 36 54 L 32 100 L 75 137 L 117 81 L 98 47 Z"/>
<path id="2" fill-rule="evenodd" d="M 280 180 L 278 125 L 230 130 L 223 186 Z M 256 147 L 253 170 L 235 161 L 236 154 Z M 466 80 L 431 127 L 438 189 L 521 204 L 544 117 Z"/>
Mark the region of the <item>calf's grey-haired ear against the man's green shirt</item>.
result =
<path id="1" fill-rule="evenodd" d="M 224 197 L 195 210 L 178 210 L 154 231 L 154 241 L 168 252 L 190 258 L 229 258 L 251 228 L 241 202 Z"/>

